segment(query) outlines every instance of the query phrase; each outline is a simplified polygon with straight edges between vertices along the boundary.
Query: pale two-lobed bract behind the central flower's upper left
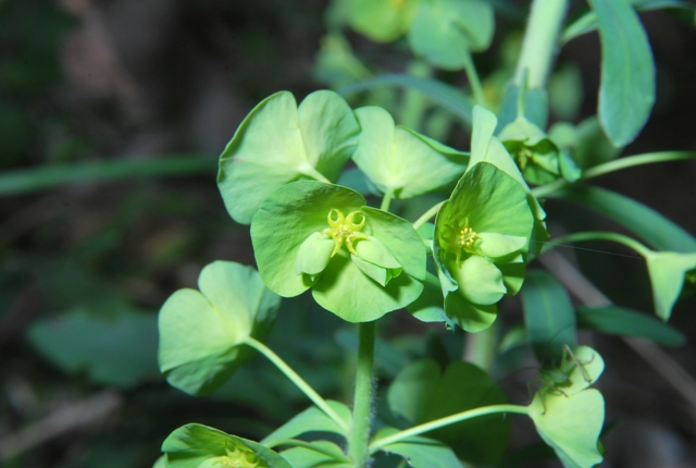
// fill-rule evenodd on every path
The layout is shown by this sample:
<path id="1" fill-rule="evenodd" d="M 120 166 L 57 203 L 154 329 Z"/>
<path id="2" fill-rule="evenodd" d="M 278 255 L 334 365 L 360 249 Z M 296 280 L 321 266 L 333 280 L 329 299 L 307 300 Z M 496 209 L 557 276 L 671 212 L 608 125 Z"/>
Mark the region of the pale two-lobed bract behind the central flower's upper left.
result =
<path id="1" fill-rule="evenodd" d="M 297 107 L 288 91 L 261 101 L 220 156 L 217 187 L 229 215 L 249 224 L 276 188 L 300 178 L 336 181 L 360 132 L 348 103 L 321 90 Z"/>

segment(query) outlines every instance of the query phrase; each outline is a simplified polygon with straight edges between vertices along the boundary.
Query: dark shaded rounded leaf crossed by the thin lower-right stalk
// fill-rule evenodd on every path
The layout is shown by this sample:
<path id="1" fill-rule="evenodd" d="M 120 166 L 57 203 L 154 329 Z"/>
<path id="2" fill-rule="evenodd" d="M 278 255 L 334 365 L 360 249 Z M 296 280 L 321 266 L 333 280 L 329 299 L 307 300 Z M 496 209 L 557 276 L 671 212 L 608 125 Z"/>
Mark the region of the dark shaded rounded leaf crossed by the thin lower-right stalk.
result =
<path id="1" fill-rule="evenodd" d="M 388 392 L 391 411 L 413 423 L 487 405 L 507 403 L 505 394 L 483 370 L 469 362 L 453 362 L 443 374 L 434 360 L 421 360 L 403 369 Z M 470 419 L 427 432 L 453 447 L 465 461 L 488 465 L 500 458 L 510 436 L 510 420 L 501 415 Z"/>

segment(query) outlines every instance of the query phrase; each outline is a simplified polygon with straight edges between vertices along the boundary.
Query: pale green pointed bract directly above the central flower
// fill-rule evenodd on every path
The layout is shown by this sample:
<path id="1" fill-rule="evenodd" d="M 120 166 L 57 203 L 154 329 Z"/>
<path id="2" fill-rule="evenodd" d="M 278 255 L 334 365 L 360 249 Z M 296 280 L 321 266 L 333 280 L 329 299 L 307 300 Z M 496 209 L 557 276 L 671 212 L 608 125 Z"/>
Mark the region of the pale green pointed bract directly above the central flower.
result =
<path id="1" fill-rule="evenodd" d="M 411 198 L 453 185 L 467 169 L 469 155 L 395 125 L 382 108 L 360 108 L 356 116 L 362 131 L 352 159 L 383 193 Z"/>

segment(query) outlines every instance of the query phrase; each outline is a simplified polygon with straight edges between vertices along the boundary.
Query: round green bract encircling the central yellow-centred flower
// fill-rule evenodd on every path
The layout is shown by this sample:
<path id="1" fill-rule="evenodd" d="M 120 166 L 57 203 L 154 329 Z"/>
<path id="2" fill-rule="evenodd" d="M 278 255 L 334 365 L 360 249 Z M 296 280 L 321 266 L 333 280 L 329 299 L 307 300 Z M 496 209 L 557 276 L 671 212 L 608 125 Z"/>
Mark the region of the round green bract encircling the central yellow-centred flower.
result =
<path id="1" fill-rule="evenodd" d="M 348 246 L 346 242 L 315 278 L 298 275 L 300 246 L 314 233 L 331 231 L 327 215 L 334 210 L 343 215 L 360 213 L 356 215 L 362 217 L 365 224 L 357 232 L 362 235 L 357 243 L 376 238 L 402 273 L 390 278 L 385 286 L 378 284 L 352 261 L 352 253 L 343 247 Z M 253 217 L 251 241 L 261 278 L 272 291 L 293 297 L 312 287 L 320 306 L 350 322 L 375 320 L 412 303 L 423 291 L 425 248 L 411 223 L 365 207 L 364 198 L 346 187 L 300 181 L 279 188 Z M 368 255 L 370 259 L 374 260 L 372 254 Z"/>

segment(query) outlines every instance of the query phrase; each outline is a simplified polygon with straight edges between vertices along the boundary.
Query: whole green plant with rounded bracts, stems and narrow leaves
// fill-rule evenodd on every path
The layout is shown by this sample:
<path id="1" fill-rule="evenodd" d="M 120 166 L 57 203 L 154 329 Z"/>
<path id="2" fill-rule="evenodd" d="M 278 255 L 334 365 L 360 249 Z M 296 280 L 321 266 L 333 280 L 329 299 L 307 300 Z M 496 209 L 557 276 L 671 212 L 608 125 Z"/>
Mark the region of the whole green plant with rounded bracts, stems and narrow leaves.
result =
<path id="1" fill-rule="evenodd" d="M 659 2 L 636 7 L 654 3 Z M 527 272 L 527 266 L 559 244 L 621 243 L 646 259 L 656 313 L 667 321 L 680 294 L 696 282 L 696 239 L 647 207 L 586 181 L 696 155 L 667 151 L 614 159 L 619 151 L 609 150 L 601 163 L 596 163 L 599 149 L 587 156 L 592 139 L 605 138 L 614 147 L 631 143 L 655 100 L 652 56 L 632 4 L 589 4 L 591 11 L 561 32 L 568 2 L 534 0 L 515 72 L 497 95 L 490 91 L 493 84 L 480 79 L 472 59 L 472 52 L 492 42 L 490 3 L 332 4 L 331 37 L 320 53 L 318 75 L 341 86 L 345 96 L 366 90 L 362 99 L 369 106 L 352 110 L 339 94 L 320 90 L 298 107 L 291 94 L 282 91 L 249 113 L 220 158 L 217 185 L 231 217 L 250 224 L 259 272 L 235 262 L 211 263 L 201 272 L 200 292 L 174 293 L 159 319 L 160 369 L 172 385 L 192 395 L 209 394 L 258 352 L 314 406 L 258 443 L 187 424 L 164 441 L 158 464 L 362 468 L 388 466 L 390 458 L 401 457 L 401 466 L 417 468 L 460 467 L 460 460 L 492 465 L 501 458 L 510 435 L 508 414 L 531 418 L 566 467 L 601 461 L 604 398 L 587 387 L 599 378 L 604 361 L 598 352 L 577 346 L 577 322 L 658 341 L 673 330 L 625 309 L 576 312 L 554 276 Z M 669 5 L 693 10 L 682 2 Z M 417 57 L 411 75 L 370 77 L 369 67 L 340 36 L 346 24 L 378 42 L 406 35 Z M 545 131 L 555 50 L 594 28 L 602 40 L 597 119 L 604 136 L 597 133 L 599 125 L 587 132 L 586 125 L 557 123 Z M 470 90 L 430 77 L 431 66 L 463 70 Z M 402 99 L 380 87 L 385 84 L 405 86 Z M 396 125 L 385 108 L 408 126 Z M 470 152 L 435 138 L 445 137 L 455 119 L 471 131 Z M 346 169 L 351 158 L 357 168 Z M 381 198 L 378 208 L 370 206 L 374 196 Z M 609 211 L 656 250 L 606 232 L 573 233 L 545 246 L 549 233 L 539 202 L 545 198 Z M 410 222 L 395 214 L 397 200 L 402 211 L 411 206 L 421 215 Z M 644 215 L 636 217 L 636 210 Z M 278 296 L 308 290 L 322 308 L 358 323 L 352 408 L 324 399 L 263 344 L 281 307 Z M 539 360 L 540 385 L 529 405 L 508 403 L 490 377 L 498 303 L 520 291 L 525 325 L 510 330 L 502 341 L 529 342 Z M 419 320 L 470 334 L 481 366 L 412 362 L 390 382 L 391 416 L 375 418 L 376 321 L 405 313 L 395 312 L 403 308 Z M 680 338 L 676 333 L 667 340 Z M 308 433 L 321 435 L 300 438 Z"/>

